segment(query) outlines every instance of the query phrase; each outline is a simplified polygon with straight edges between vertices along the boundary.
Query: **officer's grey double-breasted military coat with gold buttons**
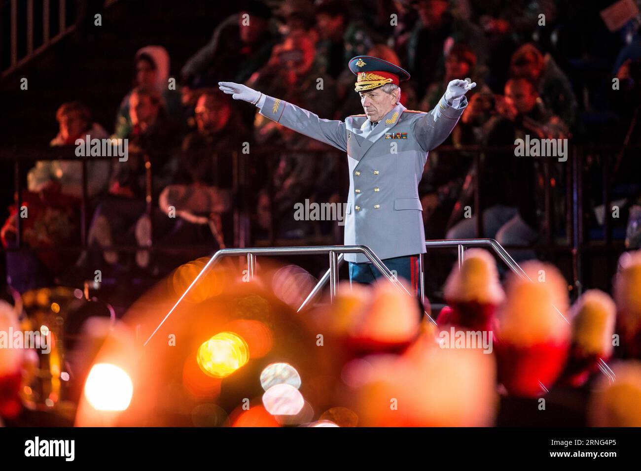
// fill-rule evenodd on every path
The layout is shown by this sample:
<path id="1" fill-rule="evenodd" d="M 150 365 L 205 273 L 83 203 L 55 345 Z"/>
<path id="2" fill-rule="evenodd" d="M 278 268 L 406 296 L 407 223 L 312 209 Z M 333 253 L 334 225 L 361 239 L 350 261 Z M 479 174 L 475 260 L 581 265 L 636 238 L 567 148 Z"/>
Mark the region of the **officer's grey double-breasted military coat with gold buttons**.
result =
<path id="1" fill-rule="evenodd" d="M 367 245 L 385 259 L 426 251 L 419 181 L 428 152 L 447 138 L 465 106 L 465 97 L 458 108 L 442 97 L 429 113 L 406 110 L 399 103 L 373 127 L 366 115 L 350 116 L 344 122 L 320 119 L 269 96 L 260 113 L 347 152 L 344 243 Z M 369 261 L 361 254 L 345 254 L 345 260 Z"/>

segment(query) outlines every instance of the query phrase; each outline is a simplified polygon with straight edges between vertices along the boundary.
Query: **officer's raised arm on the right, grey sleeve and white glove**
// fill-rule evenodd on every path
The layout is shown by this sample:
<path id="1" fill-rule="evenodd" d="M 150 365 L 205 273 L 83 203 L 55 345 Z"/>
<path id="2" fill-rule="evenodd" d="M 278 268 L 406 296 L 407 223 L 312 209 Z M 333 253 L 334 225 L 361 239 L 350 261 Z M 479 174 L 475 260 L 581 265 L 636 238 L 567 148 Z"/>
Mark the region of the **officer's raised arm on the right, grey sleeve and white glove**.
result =
<path id="1" fill-rule="evenodd" d="M 467 106 L 465 93 L 474 87 L 475 82 L 451 81 L 437 106 L 414 122 L 414 136 L 425 151 L 431 151 L 449 136 Z"/>

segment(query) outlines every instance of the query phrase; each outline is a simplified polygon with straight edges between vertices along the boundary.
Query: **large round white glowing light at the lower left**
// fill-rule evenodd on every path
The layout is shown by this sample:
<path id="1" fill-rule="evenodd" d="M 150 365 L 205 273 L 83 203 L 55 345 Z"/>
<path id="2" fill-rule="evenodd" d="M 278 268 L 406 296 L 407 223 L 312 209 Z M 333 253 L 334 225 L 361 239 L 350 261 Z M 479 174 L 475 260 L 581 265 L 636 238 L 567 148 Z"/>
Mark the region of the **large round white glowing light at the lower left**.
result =
<path id="1" fill-rule="evenodd" d="M 99 411 L 124 411 L 133 395 L 133 383 L 120 367 L 96 363 L 85 383 L 85 397 Z"/>

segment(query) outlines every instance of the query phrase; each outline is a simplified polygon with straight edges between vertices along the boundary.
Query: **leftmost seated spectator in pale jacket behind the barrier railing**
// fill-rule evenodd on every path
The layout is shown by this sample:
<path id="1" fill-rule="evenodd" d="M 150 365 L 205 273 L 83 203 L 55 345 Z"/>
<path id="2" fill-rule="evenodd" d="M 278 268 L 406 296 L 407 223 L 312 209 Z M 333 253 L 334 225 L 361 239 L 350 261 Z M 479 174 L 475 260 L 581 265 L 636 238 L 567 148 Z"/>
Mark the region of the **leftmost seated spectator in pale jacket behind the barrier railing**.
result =
<path id="1" fill-rule="evenodd" d="M 108 138 L 100 124 L 92 120 L 87 105 L 78 101 L 63 103 L 56 112 L 59 131 L 52 147 L 92 144 L 93 139 Z M 110 178 L 110 163 L 92 159 L 85 163 L 87 197 L 92 208 L 103 196 Z M 83 163 L 71 160 L 40 160 L 27 174 L 27 190 L 21 195 L 21 207 L 10 208 L 2 228 L 4 247 L 17 247 L 17 219 L 22 219 L 22 242 L 26 251 L 8 252 L 8 277 L 19 291 L 47 285 L 54 276 L 65 272 L 70 252 L 30 251 L 52 249 L 79 242 L 79 210 L 83 195 Z"/>

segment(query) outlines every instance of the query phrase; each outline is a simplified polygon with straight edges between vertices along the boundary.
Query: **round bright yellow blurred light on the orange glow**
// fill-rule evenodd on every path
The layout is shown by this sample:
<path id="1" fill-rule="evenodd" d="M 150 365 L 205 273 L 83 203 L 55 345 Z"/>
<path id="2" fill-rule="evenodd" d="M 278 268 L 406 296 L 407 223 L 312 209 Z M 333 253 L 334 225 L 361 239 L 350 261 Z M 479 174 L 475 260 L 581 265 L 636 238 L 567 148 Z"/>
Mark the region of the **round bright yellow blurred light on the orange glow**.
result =
<path id="1" fill-rule="evenodd" d="M 249 360 L 249 347 L 233 332 L 221 332 L 198 349 L 198 366 L 209 376 L 229 376 Z"/>

